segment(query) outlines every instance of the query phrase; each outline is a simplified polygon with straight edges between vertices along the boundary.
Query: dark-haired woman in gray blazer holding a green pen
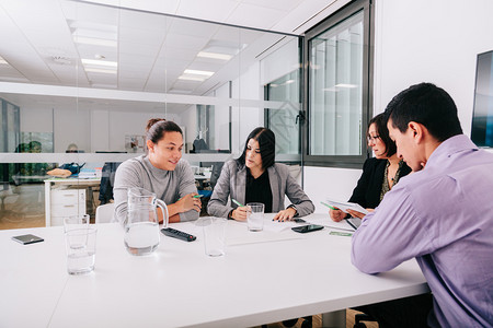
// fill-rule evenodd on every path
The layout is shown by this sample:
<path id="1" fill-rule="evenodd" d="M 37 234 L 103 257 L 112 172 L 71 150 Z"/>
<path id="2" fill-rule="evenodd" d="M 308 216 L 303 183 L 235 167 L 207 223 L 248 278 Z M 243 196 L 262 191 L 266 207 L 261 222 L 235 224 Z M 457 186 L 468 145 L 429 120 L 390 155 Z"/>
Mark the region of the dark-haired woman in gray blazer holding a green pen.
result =
<path id="1" fill-rule="evenodd" d="M 262 202 L 266 213 L 277 213 L 274 220 L 290 220 L 314 211 L 313 203 L 290 176 L 287 165 L 274 163 L 275 134 L 259 127 L 246 138 L 242 155 L 222 167 L 214 188 L 207 212 L 214 216 L 246 220 L 246 208 L 228 203 L 228 196 L 238 202 Z M 285 208 L 285 196 L 291 204 Z"/>

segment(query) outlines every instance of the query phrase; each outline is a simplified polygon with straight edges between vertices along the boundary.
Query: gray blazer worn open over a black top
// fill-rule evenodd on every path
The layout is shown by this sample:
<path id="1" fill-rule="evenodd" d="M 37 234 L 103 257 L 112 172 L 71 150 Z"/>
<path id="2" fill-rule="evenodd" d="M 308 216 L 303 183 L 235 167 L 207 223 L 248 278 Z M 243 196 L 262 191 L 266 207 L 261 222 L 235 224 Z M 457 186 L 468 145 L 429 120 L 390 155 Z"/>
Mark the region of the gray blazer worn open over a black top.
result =
<path id="1" fill-rule="evenodd" d="M 285 210 L 285 195 L 293 202 L 298 211 L 298 215 L 305 216 L 313 213 L 314 206 L 301 187 L 289 174 L 289 168 L 284 164 L 275 163 L 267 168 L 268 179 L 272 189 L 272 211 L 277 213 Z M 214 188 L 207 206 L 207 212 L 213 216 L 228 218 L 231 210 L 238 206 L 230 201 L 228 204 L 228 196 L 244 204 L 246 191 L 246 167 L 237 164 L 236 160 L 231 160 L 222 167 L 221 175 Z"/>

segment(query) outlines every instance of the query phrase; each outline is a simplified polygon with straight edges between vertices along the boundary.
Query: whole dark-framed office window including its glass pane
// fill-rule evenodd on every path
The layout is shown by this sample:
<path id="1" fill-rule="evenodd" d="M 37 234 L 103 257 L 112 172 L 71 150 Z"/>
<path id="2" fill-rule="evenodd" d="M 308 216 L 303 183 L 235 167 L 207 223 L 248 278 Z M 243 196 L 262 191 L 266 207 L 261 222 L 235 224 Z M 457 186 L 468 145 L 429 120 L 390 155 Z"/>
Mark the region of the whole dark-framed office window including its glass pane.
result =
<path id="1" fill-rule="evenodd" d="M 359 166 L 370 110 L 369 2 L 357 1 L 307 33 L 307 164 Z"/>

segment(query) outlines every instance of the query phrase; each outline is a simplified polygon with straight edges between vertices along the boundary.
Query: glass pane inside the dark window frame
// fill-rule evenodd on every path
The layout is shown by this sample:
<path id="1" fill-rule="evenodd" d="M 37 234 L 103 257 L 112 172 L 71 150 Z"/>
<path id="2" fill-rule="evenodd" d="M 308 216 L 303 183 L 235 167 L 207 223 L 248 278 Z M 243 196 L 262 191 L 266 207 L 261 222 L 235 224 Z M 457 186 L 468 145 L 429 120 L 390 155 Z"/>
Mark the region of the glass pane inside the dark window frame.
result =
<path id="1" fill-rule="evenodd" d="M 311 155 L 362 154 L 363 11 L 309 42 Z"/>

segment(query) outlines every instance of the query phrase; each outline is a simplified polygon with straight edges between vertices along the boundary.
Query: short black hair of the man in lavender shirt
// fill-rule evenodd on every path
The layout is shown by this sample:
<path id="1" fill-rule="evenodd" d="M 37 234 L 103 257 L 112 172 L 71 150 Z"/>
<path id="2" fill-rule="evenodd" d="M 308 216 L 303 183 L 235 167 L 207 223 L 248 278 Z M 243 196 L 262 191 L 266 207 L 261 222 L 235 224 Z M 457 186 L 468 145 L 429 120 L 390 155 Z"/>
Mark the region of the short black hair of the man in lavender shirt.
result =
<path id="1" fill-rule="evenodd" d="M 401 91 L 387 105 L 385 115 L 401 132 L 408 130 L 410 121 L 422 124 L 439 142 L 462 134 L 454 99 L 433 83 L 420 83 Z"/>

